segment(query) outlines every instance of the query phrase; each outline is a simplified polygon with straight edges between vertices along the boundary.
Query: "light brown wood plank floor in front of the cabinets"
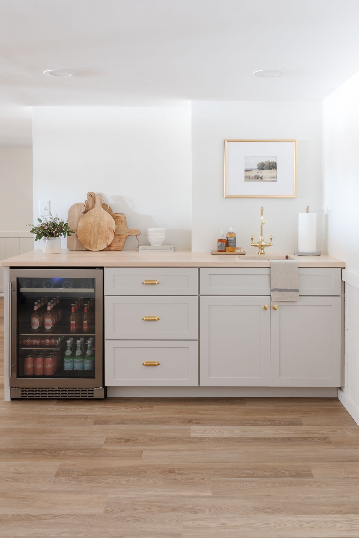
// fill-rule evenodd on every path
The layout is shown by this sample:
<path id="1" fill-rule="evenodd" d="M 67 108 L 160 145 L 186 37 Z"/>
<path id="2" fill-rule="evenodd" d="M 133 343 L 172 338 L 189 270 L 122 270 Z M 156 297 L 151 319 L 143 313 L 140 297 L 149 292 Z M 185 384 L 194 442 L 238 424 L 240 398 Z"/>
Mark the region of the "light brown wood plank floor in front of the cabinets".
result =
<path id="1" fill-rule="evenodd" d="M 0 398 L 1 537 L 359 536 L 337 399 Z"/>

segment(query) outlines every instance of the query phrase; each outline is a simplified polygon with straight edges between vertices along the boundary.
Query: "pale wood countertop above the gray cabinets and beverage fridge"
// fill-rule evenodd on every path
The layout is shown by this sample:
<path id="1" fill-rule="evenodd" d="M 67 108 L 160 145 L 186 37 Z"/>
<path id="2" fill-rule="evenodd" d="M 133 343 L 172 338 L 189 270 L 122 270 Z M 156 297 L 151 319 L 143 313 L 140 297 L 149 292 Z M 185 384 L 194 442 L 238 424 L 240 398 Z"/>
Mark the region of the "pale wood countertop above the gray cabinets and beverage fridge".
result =
<path id="1" fill-rule="evenodd" d="M 270 252 L 268 256 L 270 257 Z M 0 261 L 4 267 L 270 267 L 270 261 L 258 256 L 247 259 L 248 254 L 216 255 L 207 252 L 145 252 L 133 250 L 90 252 L 88 250 L 62 250 L 61 254 L 44 254 L 41 249 Z M 250 254 L 251 258 L 253 254 Z M 273 257 L 278 254 L 273 254 Z M 262 258 L 262 259 L 261 259 Z M 345 261 L 322 254 L 321 256 L 294 256 L 299 267 L 345 267 Z"/>

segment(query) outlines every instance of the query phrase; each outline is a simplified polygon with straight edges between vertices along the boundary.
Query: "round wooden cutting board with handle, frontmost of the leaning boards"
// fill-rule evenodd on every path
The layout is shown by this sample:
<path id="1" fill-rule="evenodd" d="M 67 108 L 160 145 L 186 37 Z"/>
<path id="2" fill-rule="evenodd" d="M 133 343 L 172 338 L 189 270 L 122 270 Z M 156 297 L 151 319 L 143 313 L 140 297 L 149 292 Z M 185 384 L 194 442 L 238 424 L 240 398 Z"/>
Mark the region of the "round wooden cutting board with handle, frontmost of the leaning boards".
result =
<path id="1" fill-rule="evenodd" d="M 111 215 L 102 208 L 102 196 L 96 197 L 94 209 L 80 218 L 78 238 L 88 250 L 103 250 L 115 237 L 116 224 Z"/>

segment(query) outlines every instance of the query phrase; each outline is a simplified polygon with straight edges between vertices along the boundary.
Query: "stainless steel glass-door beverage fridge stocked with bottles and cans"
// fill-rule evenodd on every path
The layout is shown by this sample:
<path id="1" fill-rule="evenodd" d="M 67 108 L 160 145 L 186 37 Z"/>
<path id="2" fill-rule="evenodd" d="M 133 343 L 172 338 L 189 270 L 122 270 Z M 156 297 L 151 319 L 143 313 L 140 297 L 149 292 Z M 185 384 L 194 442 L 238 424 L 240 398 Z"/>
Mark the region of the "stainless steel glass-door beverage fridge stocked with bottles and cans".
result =
<path id="1" fill-rule="evenodd" d="M 10 270 L 11 398 L 104 398 L 103 270 Z"/>

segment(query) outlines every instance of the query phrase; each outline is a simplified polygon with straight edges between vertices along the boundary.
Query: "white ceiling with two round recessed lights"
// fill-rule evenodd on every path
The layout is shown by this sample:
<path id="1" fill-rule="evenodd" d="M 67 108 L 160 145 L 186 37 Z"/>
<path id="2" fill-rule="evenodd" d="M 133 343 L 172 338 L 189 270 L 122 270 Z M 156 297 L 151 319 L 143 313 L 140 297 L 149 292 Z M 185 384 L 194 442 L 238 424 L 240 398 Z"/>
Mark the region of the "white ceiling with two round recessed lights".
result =
<path id="1" fill-rule="evenodd" d="M 35 105 L 322 99 L 359 69 L 358 20 L 358 0 L 0 0 L 0 147 L 31 145 Z"/>

